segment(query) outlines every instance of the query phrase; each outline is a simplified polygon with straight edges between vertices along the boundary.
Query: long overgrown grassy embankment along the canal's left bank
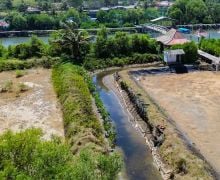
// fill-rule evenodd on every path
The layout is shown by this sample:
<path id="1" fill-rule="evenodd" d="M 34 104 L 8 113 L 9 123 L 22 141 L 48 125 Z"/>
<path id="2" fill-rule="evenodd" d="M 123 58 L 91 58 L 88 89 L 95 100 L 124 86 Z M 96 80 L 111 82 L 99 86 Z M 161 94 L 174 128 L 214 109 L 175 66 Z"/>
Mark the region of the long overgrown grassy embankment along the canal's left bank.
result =
<path id="1" fill-rule="evenodd" d="M 105 164 L 95 167 L 98 172 L 102 172 L 102 176 L 95 174 L 96 179 L 115 179 L 121 168 L 121 159 L 116 153 L 109 154 L 107 151 L 103 127 L 92 106 L 92 85 L 88 84 L 91 81 L 85 73 L 81 67 L 70 63 L 53 68 L 52 79 L 62 105 L 66 139 L 73 154 L 89 149 L 92 156 L 105 156 Z M 98 106 L 100 108 L 101 105 Z"/>

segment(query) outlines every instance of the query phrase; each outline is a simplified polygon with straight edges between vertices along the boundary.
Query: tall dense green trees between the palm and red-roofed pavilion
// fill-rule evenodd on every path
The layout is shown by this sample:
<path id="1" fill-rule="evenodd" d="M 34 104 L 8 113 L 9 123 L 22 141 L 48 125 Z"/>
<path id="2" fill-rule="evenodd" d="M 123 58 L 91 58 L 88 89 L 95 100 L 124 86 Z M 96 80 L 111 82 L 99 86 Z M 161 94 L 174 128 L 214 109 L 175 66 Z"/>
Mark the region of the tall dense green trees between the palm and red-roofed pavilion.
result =
<path id="1" fill-rule="evenodd" d="M 129 35 L 117 32 L 108 37 L 107 30 L 102 28 L 94 44 L 97 58 L 114 58 L 130 56 L 132 53 L 157 53 L 156 42 L 147 35 Z"/>

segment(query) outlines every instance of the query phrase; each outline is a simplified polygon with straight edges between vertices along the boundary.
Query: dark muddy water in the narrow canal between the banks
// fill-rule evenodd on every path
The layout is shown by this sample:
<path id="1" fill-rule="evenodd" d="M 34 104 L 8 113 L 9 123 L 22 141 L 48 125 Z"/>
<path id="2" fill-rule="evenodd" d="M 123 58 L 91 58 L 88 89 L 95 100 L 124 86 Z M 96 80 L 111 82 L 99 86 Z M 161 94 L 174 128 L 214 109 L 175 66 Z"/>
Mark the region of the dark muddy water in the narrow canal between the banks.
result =
<path id="1" fill-rule="evenodd" d="M 160 180 L 161 176 L 153 164 L 151 153 L 142 135 L 128 120 L 116 95 L 104 86 L 103 73 L 94 77 L 100 97 L 110 113 L 117 131 L 117 148 L 124 156 L 126 178 L 130 180 Z"/>

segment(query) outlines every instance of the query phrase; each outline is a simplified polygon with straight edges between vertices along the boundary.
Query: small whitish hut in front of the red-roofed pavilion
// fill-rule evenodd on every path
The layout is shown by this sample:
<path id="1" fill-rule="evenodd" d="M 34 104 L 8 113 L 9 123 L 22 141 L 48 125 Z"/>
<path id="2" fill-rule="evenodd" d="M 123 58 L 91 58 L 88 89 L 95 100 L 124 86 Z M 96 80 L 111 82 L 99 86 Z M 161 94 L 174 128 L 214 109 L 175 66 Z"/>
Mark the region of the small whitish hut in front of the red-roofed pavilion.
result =
<path id="1" fill-rule="evenodd" d="M 167 50 L 164 51 L 164 62 L 168 65 L 181 64 L 182 56 L 185 54 L 183 49 Z"/>

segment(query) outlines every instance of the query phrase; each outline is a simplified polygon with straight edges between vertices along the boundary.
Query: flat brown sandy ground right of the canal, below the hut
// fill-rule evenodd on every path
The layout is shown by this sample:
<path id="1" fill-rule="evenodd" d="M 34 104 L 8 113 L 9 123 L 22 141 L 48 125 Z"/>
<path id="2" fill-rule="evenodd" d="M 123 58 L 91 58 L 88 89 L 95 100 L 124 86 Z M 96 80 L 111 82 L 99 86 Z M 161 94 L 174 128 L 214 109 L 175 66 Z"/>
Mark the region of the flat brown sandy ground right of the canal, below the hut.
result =
<path id="1" fill-rule="evenodd" d="M 220 174 L 220 73 L 146 75 L 138 82 Z"/>

